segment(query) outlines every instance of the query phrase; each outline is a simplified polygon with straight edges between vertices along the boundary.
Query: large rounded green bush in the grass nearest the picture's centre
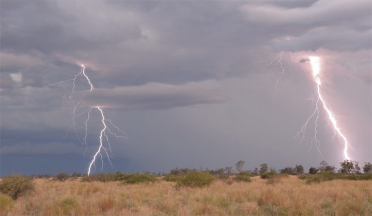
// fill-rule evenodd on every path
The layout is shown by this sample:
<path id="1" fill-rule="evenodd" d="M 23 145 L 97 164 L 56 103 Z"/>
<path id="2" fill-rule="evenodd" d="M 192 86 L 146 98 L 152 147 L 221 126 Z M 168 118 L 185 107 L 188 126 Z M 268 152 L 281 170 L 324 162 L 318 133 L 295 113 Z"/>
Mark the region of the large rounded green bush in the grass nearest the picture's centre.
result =
<path id="1" fill-rule="evenodd" d="M 203 187 L 210 185 L 215 177 L 209 173 L 191 171 L 181 178 L 176 186 Z"/>

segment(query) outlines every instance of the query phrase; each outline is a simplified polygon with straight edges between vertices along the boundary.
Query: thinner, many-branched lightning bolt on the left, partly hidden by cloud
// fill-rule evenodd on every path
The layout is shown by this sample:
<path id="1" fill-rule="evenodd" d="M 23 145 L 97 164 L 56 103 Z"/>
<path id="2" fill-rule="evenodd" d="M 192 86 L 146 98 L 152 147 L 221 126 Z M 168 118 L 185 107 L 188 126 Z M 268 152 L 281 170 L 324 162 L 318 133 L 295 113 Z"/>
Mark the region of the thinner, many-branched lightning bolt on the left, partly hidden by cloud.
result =
<path id="1" fill-rule="evenodd" d="M 95 166 L 95 162 L 96 162 L 96 159 L 97 159 L 98 155 L 101 158 L 101 170 L 103 169 L 103 164 L 104 164 L 103 155 L 102 155 L 103 152 L 106 155 L 107 159 L 109 160 L 110 165 L 112 166 L 112 163 L 111 163 L 111 160 L 110 160 L 110 157 L 111 157 L 110 153 L 112 154 L 112 151 L 111 151 L 111 145 L 110 145 L 110 142 L 109 142 L 109 136 L 108 136 L 107 133 L 109 133 L 111 135 L 114 135 L 116 138 L 127 139 L 127 136 L 126 136 L 126 134 L 124 133 L 123 130 L 121 130 L 119 127 L 117 127 L 115 124 L 113 124 L 112 121 L 109 118 L 105 117 L 102 108 L 99 107 L 99 106 L 89 107 L 88 109 L 84 110 L 83 112 L 77 114 L 77 108 L 78 108 L 78 105 L 80 104 L 80 102 L 76 102 L 73 98 L 73 95 L 74 95 L 74 92 L 75 92 L 76 81 L 77 81 L 78 77 L 83 77 L 88 81 L 88 83 L 90 85 L 90 92 L 92 92 L 94 90 L 94 87 L 93 87 L 93 84 L 91 83 L 91 80 L 89 79 L 89 77 L 85 73 L 85 66 L 81 65 L 81 69 L 80 69 L 79 73 L 76 74 L 74 76 L 74 78 L 69 79 L 69 80 L 65 80 L 65 81 L 61 81 L 61 82 L 58 82 L 58 83 L 53 83 L 53 84 L 43 86 L 42 88 L 37 90 L 35 94 L 37 94 L 41 89 L 44 89 L 44 88 L 48 88 L 48 87 L 55 86 L 55 85 L 62 84 L 62 83 L 72 82 L 73 87 L 72 87 L 72 90 L 71 90 L 70 96 L 69 96 L 69 100 L 70 100 L 69 102 L 71 102 L 74 105 L 74 109 L 73 109 L 73 112 L 71 114 L 72 115 L 72 126 L 71 127 L 74 129 L 74 133 L 75 133 L 76 137 L 78 138 L 78 140 L 80 141 L 80 143 L 83 146 L 86 147 L 86 151 L 87 151 L 87 148 L 88 148 L 88 143 L 87 143 L 88 123 L 91 119 L 91 113 L 92 113 L 93 109 L 97 109 L 97 111 L 99 112 L 99 114 L 101 116 L 101 122 L 102 122 L 103 128 L 102 128 L 102 130 L 99 134 L 98 150 L 95 152 L 95 154 L 93 155 L 92 161 L 89 163 L 89 167 L 88 167 L 88 176 L 89 176 L 91 174 L 92 166 Z M 84 114 L 87 114 L 87 117 L 84 121 L 84 134 L 85 135 L 84 135 L 83 139 L 81 140 L 80 137 L 78 136 L 78 132 L 77 132 L 76 117 L 82 116 Z M 107 123 L 109 123 L 109 124 L 107 124 Z M 117 132 L 115 132 L 115 131 L 112 132 L 109 129 L 108 126 L 115 129 Z M 117 133 L 122 133 L 122 135 L 118 135 Z M 106 142 L 106 146 L 105 146 L 105 142 Z M 84 155 L 85 155 L 86 151 L 84 152 Z"/>

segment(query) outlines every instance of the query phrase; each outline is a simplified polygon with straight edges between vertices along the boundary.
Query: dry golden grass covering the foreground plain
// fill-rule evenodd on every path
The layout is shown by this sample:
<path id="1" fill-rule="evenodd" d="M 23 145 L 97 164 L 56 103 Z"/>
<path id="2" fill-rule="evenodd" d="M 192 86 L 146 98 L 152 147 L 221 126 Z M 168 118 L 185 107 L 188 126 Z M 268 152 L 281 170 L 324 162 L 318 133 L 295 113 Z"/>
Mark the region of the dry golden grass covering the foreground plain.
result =
<path id="1" fill-rule="evenodd" d="M 253 177 L 250 183 L 216 181 L 209 187 L 179 189 L 165 181 L 35 183 L 33 194 L 17 199 L 1 215 L 372 215 L 372 181 L 309 185 L 289 176 L 268 184 Z"/>

